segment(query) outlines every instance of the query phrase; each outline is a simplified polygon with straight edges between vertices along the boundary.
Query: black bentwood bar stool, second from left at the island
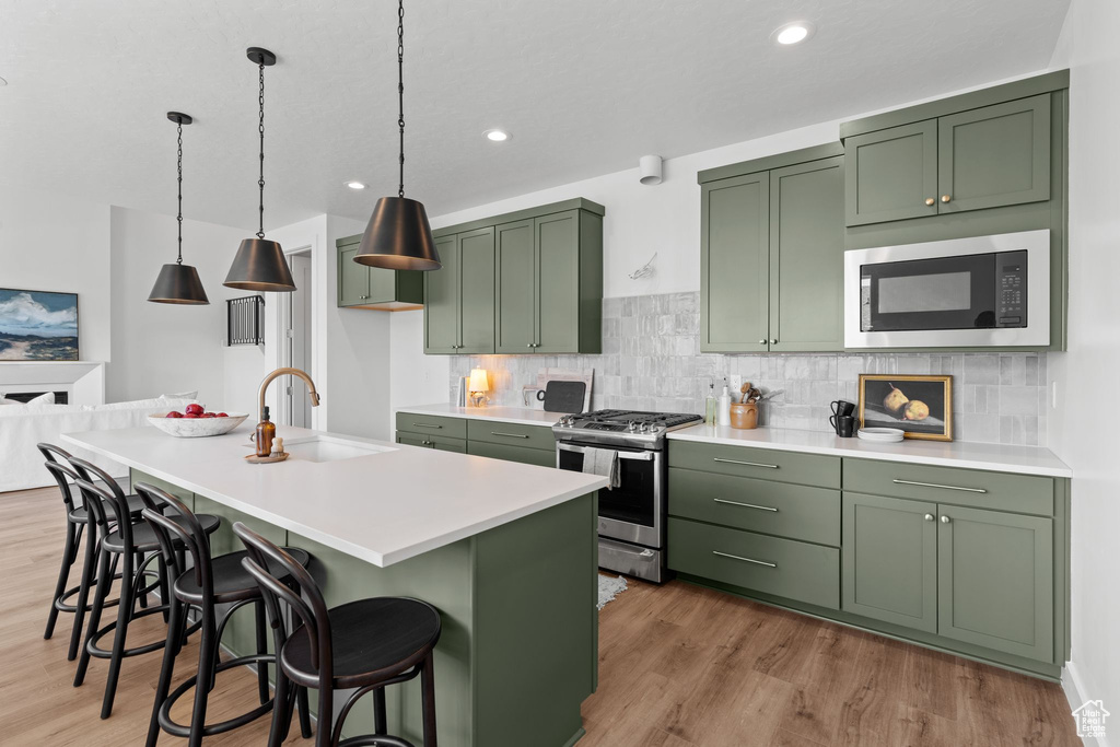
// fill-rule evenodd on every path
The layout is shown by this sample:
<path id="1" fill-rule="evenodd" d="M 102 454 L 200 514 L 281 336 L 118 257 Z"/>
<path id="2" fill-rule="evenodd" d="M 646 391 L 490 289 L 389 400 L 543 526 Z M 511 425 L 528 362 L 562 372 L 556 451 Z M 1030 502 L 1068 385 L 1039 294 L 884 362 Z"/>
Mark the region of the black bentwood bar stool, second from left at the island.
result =
<path id="1" fill-rule="evenodd" d="M 90 610 L 90 626 L 85 634 L 85 645 L 78 659 L 77 672 L 74 674 L 74 687 L 81 687 L 85 681 L 85 673 L 88 670 L 91 656 L 108 659 L 109 675 L 105 681 L 105 694 L 101 704 L 101 718 L 106 719 L 113 712 L 113 698 L 116 695 L 116 681 L 120 679 L 122 661 L 129 656 L 139 656 L 159 651 L 165 645 L 164 641 L 157 641 L 142 646 L 136 646 L 134 648 L 127 648 L 125 641 L 128 639 L 129 623 L 132 620 L 157 613 L 162 614 L 169 620 L 170 605 L 168 604 L 168 599 L 170 599 L 170 595 L 167 582 L 167 567 L 162 562 L 162 553 L 160 552 L 155 530 L 142 520 L 138 523 L 131 521 L 128 512 L 128 502 L 120 486 L 112 482 L 112 478 L 106 480 L 105 478 L 109 476 L 96 465 L 92 465 L 77 457 L 72 458 L 71 464 L 80 475 L 76 483 L 82 491 L 85 505 L 90 508 L 90 514 L 93 519 L 91 532 L 93 531 L 93 526 L 96 526 L 101 540 L 101 560 L 97 563 L 97 589 L 93 597 L 93 607 Z M 93 477 L 97 477 L 103 483 L 94 483 Z M 208 514 L 196 514 L 195 517 L 206 534 L 213 534 L 222 523 L 222 520 L 217 516 Z M 181 516 L 171 517 L 172 521 L 180 521 L 181 519 Z M 110 526 L 111 521 L 116 522 L 115 529 Z M 177 549 L 181 550 L 181 548 Z M 148 557 L 140 563 L 139 568 L 133 569 L 133 558 L 138 554 L 147 554 Z M 105 608 L 105 598 L 109 596 L 109 588 L 113 581 L 112 568 L 118 559 L 122 564 L 122 580 L 120 598 L 116 605 L 116 620 L 103 628 L 99 628 L 101 613 Z M 143 578 L 143 571 L 152 561 L 158 561 L 160 599 L 162 604 L 142 608 L 138 611 L 133 609 L 139 592 L 136 579 Z M 197 623 L 188 628 L 185 632 L 185 636 L 197 631 L 199 626 L 200 623 Z M 112 650 L 100 648 L 97 643 L 109 633 L 113 634 Z"/>

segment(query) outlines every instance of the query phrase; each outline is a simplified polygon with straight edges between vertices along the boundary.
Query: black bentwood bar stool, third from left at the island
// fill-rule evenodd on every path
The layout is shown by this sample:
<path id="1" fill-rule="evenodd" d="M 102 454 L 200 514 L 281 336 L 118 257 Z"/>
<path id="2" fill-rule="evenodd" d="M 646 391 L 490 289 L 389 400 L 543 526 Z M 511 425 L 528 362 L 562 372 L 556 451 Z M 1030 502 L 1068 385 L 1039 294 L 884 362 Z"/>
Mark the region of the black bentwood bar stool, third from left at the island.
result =
<path id="1" fill-rule="evenodd" d="M 273 708 L 269 697 L 268 665 L 276 662 L 276 656 L 268 653 L 264 624 L 264 601 L 256 582 L 242 567 L 241 561 L 246 552 L 231 552 L 214 558 L 211 555 L 209 540 L 202 522 L 178 498 L 160 488 L 138 483 L 137 492 L 143 498 L 142 516 L 151 526 L 159 551 L 164 557 L 171 579 L 170 623 L 167 627 L 167 642 L 164 647 L 164 665 L 159 673 L 159 684 L 156 688 L 156 702 L 152 706 L 151 721 L 148 725 L 148 747 L 155 747 L 160 729 L 176 737 L 189 739 L 190 747 L 202 744 L 203 737 L 209 737 L 231 731 L 264 716 Z M 172 517 L 174 514 L 178 514 Z M 193 568 L 185 568 L 179 550 L 186 549 L 190 555 Z M 286 548 L 301 567 L 307 566 L 310 555 L 299 548 Z M 280 577 L 283 570 L 273 568 Z M 221 620 L 217 619 L 217 605 L 232 605 Z M 221 661 L 218 646 L 222 633 L 234 611 L 245 605 L 254 605 L 256 611 L 256 653 Z M 174 692 L 171 676 L 175 671 L 175 659 L 183 648 L 183 632 L 187 627 L 187 614 L 195 607 L 202 613 L 202 641 L 198 651 L 197 673 L 185 680 Z M 280 651 L 286 637 L 283 620 L 273 625 L 273 645 Z M 218 672 L 256 664 L 258 694 L 260 706 L 225 721 L 206 725 L 206 707 L 209 692 Z M 171 720 L 171 708 L 190 688 L 195 689 L 194 711 L 190 725 L 184 726 Z M 307 707 L 307 690 L 300 688 L 300 727 L 304 737 L 311 736 L 310 717 Z"/>

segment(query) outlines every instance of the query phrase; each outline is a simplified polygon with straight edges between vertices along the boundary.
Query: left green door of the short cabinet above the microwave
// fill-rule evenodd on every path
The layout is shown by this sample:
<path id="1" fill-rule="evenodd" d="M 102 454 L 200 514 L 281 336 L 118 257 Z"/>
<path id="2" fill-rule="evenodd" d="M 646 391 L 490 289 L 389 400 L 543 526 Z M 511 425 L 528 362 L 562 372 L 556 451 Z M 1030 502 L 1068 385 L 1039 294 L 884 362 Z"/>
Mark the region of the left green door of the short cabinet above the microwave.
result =
<path id="1" fill-rule="evenodd" d="M 937 120 L 844 141 L 848 225 L 937 214 Z"/>

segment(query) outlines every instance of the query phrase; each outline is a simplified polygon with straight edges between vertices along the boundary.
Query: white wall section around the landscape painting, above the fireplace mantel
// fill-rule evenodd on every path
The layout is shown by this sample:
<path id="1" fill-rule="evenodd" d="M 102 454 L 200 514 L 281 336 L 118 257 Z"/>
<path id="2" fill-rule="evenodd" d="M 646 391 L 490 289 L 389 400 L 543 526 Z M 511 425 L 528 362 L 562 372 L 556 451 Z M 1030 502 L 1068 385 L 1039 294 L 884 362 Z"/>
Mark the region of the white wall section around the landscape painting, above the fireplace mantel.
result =
<path id="1" fill-rule="evenodd" d="M 78 355 L 112 356 L 109 205 L 0 184 L 0 288 L 77 293 Z"/>

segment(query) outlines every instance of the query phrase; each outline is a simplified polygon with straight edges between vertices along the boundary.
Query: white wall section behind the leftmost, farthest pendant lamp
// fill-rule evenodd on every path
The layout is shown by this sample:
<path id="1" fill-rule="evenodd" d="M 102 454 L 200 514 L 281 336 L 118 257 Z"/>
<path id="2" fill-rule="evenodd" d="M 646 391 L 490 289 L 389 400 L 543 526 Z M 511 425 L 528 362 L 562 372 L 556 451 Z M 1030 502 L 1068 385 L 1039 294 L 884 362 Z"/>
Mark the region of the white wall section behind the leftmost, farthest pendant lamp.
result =
<path id="1" fill-rule="evenodd" d="M 225 396 L 225 299 L 237 295 L 222 281 L 243 228 L 183 222 L 183 261 L 198 269 L 209 306 L 151 304 L 148 293 L 160 268 L 176 256 L 171 215 L 113 207 L 111 212 L 112 362 L 111 402 L 198 391 L 207 407 L 245 412 Z M 258 354 L 259 355 L 259 354 Z"/>

